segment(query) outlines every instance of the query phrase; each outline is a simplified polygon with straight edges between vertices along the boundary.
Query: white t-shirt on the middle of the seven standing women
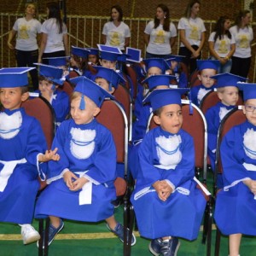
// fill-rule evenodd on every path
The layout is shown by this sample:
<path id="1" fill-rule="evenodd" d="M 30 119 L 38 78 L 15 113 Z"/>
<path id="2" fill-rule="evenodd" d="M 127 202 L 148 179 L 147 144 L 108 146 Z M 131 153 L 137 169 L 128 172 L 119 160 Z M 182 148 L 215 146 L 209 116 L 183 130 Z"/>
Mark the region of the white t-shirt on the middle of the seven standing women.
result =
<path id="1" fill-rule="evenodd" d="M 144 33 L 149 35 L 148 53 L 154 55 L 170 55 L 172 53 L 170 38 L 177 37 L 177 29 L 172 22 L 169 32 L 166 32 L 161 24 L 154 28 L 154 20 L 151 20 L 148 22 Z"/>

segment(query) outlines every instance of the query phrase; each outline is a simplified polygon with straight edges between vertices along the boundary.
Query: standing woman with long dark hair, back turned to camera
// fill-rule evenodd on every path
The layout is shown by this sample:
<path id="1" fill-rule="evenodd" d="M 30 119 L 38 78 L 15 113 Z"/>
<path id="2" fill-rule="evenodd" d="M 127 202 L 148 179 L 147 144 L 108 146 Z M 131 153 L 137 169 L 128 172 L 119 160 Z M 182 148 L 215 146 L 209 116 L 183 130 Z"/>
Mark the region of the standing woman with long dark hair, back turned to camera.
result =
<path id="1" fill-rule="evenodd" d="M 42 41 L 38 62 L 49 64 L 44 58 L 68 55 L 67 26 L 61 19 L 61 9 L 58 3 L 47 3 L 46 9 L 48 19 L 44 21 L 41 28 Z"/>

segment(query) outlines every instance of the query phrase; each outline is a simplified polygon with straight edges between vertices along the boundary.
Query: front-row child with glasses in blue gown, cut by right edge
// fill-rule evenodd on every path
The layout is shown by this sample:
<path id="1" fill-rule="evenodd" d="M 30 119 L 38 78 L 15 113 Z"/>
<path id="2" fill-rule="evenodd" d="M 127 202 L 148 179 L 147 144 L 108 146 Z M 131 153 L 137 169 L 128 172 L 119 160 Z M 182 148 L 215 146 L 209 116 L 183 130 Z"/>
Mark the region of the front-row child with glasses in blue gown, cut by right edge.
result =
<path id="1" fill-rule="evenodd" d="M 218 192 L 214 216 L 230 238 L 230 256 L 239 254 L 242 234 L 256 236 L 256 84 L 237 85 L 247 121 L 232 127 L 221 143 L 224 189 Z"/>

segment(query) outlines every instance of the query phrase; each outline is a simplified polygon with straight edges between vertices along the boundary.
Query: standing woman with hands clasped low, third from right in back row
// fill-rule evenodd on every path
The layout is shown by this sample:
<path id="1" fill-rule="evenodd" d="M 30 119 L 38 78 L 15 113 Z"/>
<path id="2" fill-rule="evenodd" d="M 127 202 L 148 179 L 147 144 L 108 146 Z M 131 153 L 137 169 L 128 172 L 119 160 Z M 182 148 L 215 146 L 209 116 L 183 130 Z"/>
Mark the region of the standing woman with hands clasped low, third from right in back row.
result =
<path id="1" fill-rule="evenodd" d="M 190 74 L 196 69 L 196 60 L 201 59 L 201 49 L 205 43 L 206 27 L 198 17 L 200 5 L 200 1 L 191 0 L 177 25 L 181 40 L 179 55 L 186 56 L 183 62 L 189 67 Z"/>

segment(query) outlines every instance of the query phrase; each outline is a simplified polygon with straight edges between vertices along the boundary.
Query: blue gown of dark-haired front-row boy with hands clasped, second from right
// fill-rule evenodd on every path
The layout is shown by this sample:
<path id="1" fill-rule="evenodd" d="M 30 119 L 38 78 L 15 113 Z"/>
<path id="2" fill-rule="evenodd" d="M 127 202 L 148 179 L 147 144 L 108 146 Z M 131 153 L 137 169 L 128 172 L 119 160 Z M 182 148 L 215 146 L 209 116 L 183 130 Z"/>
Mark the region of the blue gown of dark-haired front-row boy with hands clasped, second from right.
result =
<path id="1" fill-rule="evenodd" d="M 195 239 L 206 200 L 193 180 L 193 138 L 183 130 L 173 135 L 160 127 L 154 128 L 144 137 L 138 157 L 140 170 L 131 202 L 141 236 Z M 175 187 L 166 201 L 161 201 L 152 187 L 158 180 L 167 180 Z"/>

